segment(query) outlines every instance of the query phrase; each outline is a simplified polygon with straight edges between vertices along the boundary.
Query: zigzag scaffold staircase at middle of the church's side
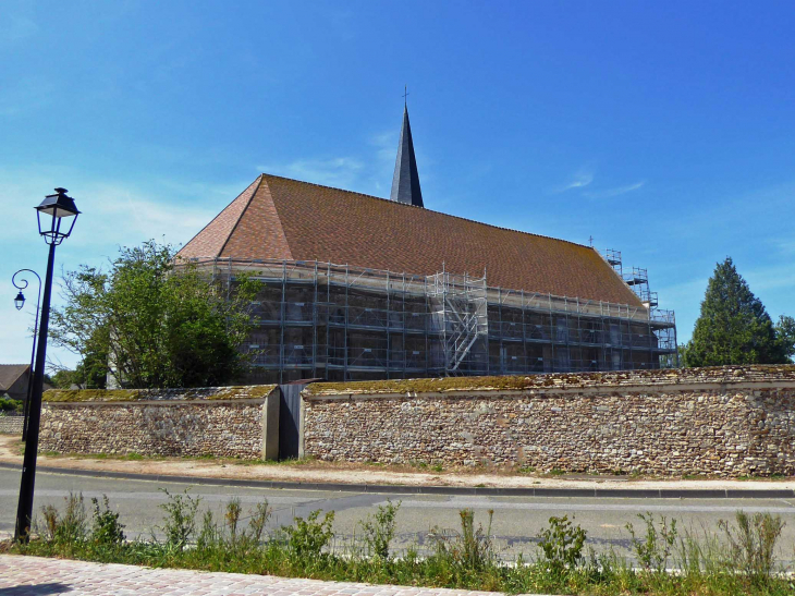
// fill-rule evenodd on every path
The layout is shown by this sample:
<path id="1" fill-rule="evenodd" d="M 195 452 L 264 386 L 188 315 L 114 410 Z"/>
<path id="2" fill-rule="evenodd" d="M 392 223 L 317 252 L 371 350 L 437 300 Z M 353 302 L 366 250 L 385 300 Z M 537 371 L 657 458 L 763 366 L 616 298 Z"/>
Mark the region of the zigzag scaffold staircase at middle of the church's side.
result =
<path id="1" fill-rule="evenodd" d="M 444 344 L 448 376 L 488 372 L 486 277 L 442 271 L 429 277 L 433 314 Z"/>

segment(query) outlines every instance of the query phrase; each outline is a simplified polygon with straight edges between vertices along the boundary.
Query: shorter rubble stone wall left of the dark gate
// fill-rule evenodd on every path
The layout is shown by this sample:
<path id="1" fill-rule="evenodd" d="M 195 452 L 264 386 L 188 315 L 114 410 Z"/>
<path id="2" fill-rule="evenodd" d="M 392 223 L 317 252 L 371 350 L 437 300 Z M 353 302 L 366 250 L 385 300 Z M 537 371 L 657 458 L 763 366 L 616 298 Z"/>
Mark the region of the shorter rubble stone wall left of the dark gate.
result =
<path id="1" fill-rule="evenodd" d="M 259 459 L 266 455 L 264 413 L 274 393 L 278 399 L 274 389 L 47 391 L 39 448 L 61 453 Z"/>

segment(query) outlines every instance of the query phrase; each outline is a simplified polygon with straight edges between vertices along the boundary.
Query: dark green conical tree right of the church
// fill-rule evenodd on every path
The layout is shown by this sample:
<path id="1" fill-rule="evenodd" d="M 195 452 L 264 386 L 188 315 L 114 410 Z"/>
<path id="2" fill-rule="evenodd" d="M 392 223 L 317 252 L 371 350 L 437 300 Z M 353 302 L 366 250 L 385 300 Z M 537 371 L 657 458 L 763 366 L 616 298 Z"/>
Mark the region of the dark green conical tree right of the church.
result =
<path id="1" fill-rule="evenodd" d="M 750 291 L 732 259 L 726 258 L 717 265 L 707 284 L 701 314 L 685 349 L 685 365 L 786 363 L 787 339 L 781 333 L 795 327 L 786 327 L 788 323 L 782 325 L 782 331 L 778 332 L 761 301 Z"/>

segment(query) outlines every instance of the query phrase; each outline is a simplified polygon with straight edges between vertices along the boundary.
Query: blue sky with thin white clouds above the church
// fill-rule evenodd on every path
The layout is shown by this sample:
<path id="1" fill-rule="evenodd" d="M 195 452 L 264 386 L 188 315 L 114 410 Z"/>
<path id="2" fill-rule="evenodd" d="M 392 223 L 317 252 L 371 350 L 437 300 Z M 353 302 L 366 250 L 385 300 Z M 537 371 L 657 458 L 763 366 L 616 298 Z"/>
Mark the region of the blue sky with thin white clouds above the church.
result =
<path id="1" fill-rule="evenodd" d="M 59 268 L 184 243 L 260 171 L 388 196 L 404 84 L 427 207 L 622 251 L 680 340 L 727 255 L 795 315 L 793 31 L 787 2 L 5 0 L 0 362 L 52 187 L 84 211 Z"/>

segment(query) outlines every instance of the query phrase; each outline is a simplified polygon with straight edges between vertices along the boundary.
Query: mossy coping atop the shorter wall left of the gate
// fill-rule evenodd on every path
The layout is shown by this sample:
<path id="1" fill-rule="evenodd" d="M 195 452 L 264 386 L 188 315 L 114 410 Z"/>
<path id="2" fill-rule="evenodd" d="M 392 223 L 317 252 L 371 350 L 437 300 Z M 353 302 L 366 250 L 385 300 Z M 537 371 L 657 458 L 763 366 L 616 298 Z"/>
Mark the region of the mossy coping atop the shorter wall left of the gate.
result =
<path id="1" fill-rule="evenodd" d="M 47 404 L 61 403 L 108 403 L 108 402 L 173 402 L 173 401 L 238 401 L 264 400 L 278 386 L 240 385 L 230 387 L 197 387 L 193 389 L 50 389 L 42 401 Z"/>

